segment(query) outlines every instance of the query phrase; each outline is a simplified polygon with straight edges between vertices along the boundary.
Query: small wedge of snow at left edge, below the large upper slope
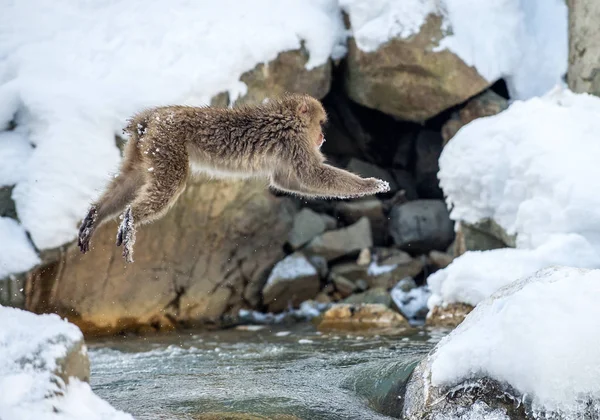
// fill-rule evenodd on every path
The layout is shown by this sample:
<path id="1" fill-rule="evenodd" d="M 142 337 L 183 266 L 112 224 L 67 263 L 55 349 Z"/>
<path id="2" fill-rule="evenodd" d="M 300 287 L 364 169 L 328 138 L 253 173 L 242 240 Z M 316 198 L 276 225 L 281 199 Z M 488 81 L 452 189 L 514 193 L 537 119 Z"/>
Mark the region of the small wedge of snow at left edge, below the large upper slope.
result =
<path id="1" fill-rule="evenodd" d="M 39 263 L 23 227 L 14 219 L 0 217 L 0 279 L 30 270 Z"/>

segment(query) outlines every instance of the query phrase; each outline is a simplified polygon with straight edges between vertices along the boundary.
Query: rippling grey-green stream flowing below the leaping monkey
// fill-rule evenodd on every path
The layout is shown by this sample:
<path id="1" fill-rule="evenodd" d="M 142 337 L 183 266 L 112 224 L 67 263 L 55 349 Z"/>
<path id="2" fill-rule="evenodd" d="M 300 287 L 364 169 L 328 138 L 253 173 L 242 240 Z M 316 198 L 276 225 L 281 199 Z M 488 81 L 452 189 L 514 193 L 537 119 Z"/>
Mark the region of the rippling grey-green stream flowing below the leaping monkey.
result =
<path id="1" fill-rule="evenodd" d="M 111 338 L 89 342 L 91 385 L 139 420 L 209 412 L 389 419 L 381 414 L 388 391 L 442 335 L 321 334 L 297 324 Z"/>

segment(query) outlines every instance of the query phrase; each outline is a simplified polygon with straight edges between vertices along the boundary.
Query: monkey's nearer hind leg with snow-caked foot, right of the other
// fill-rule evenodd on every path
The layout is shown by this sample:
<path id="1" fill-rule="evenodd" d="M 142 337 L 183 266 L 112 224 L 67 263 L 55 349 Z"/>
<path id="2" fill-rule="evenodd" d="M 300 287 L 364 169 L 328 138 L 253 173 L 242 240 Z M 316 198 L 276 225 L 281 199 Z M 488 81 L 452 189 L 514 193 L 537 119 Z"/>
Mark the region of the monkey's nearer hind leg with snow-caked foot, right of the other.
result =
<path id="1" fill-rule="evenodd" d="M 136 226 L 163 216 L 175 204 L 188 178 L 187 154 L 170 156 L 169 161 L 156 162 L 148 172 L 147 183 L 123 213 L 117 233 L 117 246 L 123 245 L 123 257 L 133 262 Z"/>

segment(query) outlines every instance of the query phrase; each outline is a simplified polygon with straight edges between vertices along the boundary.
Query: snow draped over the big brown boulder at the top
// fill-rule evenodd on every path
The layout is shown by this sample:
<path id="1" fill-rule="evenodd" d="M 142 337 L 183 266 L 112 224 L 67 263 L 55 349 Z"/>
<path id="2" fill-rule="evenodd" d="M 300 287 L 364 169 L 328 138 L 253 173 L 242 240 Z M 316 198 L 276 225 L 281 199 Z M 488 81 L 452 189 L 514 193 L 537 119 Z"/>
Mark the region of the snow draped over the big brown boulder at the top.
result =
<path id="1" fill-rule="evenodd" d="M 341 0 L 357 46 L 374 51 L 417 33 L 429 14 L 443 17 L 448 49 L 489 81 L 505 78 L 511 97 L 546 93 L 567 71 L 563 0 Z"/>

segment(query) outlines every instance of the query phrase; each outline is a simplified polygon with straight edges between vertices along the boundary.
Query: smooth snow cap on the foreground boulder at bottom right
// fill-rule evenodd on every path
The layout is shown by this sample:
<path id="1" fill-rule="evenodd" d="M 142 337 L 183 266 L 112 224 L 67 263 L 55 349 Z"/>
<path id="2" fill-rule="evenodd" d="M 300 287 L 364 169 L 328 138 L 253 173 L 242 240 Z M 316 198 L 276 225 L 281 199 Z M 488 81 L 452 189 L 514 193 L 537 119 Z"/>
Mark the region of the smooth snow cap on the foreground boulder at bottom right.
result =
<path id="1" fill-rule="evenodd" d="M 510 384 L 534 412 L 597 416 L 599 294 L 600 270 L 570 267 L 546 268 L 499 290 L 440 341 L 430 356 L 432 384 L 489 377 Z"/>

